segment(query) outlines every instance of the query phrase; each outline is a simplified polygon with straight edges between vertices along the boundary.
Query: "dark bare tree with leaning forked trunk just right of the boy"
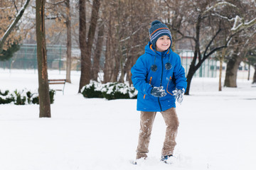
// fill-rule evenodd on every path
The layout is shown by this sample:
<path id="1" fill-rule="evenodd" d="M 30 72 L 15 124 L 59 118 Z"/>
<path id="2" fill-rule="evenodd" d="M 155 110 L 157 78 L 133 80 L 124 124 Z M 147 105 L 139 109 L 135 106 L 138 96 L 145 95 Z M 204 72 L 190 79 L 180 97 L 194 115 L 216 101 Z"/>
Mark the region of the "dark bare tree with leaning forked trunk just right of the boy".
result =
<path id="1" fill-rule="evenodd" d="M 210 3 L 210 1 L 206 1 L 205 3 L 200 3 L 197 1 L 198 8 L 196 8 L 196 11 L 194 11 L 195 16 L 196 16 L 196 21 L 195 21 L 195 36 L 186 36 L 183 33 L 180 33 L 184 38 L 190 38 L 193 40 L 195 46 L 194 46 L 194 55 L 193 55 L 193 60 L 191 62 L 191 65 L 188 69 L 188 74 L 187 74 L 187 82 L 188 82 L 188 87 L 186 89 L 186 94 L 189 94 L 190 91 L 190 86 L 191 86 L 191 81 L 193 78 L 193 75 L 196 73 L 196 71 L 201 67 L 203 62 L 210 57 L 210 55 L 213 55 L 214 52 L 217 52 L 218 50 L 221 50 L 224 47 L 227 47 L 228 42 L 234 35 L 230 35 L 228 40 L 225 41 L 225 44 L 220 44 L 218 46 L 213 45 L 213 41 L 217 36 L 220 34 L 222 30 L 225 30 L 223 28 L 222 23 L 218 23 L 218 29 L 216 30 L 209 30 L 205 29 L 203 30 L 203 26 L 207 26 L 207 23 L 209 22 L 209 19 L 213 19 L 211 17 L 211 10 L 217 6 L 222 6 L 222 3 Z M 228 4 L 230 5 L 230 4 Z M 208 7 L 210 6 L 210 7 Z M 215 12 L 213 12 L 215 13 Z M 208 20 L 206 20 L 208 18 Z M 203 34 L 206 35 L 206 39 L 203 39 Z M 211 35 L 211 37 L 209 36 Z"/>

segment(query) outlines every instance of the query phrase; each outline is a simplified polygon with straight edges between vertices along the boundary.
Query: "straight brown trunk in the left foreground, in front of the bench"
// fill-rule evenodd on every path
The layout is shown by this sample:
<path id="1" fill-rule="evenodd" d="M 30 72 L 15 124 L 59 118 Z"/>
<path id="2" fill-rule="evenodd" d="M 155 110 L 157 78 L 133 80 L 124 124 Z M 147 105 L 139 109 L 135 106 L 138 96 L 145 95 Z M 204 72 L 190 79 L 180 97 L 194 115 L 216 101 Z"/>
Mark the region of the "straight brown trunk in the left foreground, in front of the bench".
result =
<path id="1" fill-rule="evenodd" d="M 40 118 L 50 118 L 50 95 L 47 72 L 45 0 L 36 1 L 36 43 Z"/>

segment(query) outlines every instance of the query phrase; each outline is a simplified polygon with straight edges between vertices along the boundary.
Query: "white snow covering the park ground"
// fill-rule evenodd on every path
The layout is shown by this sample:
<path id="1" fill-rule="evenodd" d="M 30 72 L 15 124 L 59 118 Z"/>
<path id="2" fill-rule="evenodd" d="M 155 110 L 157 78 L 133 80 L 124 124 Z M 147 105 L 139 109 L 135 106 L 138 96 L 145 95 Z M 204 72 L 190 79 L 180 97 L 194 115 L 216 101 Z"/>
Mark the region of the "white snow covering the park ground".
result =
<path id="1" fill-rule="evenodd" d="M 50 79 L 65 72 L 49 71 Z M 156 115 L 149 159 L 133 165 L 139 135 L 135 99 L 107 101 L 78 94 L 80 73 L 72 72 L 65 94 L 57 91 L 52 118 L 39 118 L 38 105 L 0 105 L 0 169 L 256 169 L 256 87 L 218 91 L 218 78 L 195 78 L 191 95 L 177 104 L 179 129 L 175 164 L 159 162 L 165 125 Z M 38 88 L 35 71 L 0 69 L 0 89 Z M 51 86 L 53 89 L 55 86 Z"/>

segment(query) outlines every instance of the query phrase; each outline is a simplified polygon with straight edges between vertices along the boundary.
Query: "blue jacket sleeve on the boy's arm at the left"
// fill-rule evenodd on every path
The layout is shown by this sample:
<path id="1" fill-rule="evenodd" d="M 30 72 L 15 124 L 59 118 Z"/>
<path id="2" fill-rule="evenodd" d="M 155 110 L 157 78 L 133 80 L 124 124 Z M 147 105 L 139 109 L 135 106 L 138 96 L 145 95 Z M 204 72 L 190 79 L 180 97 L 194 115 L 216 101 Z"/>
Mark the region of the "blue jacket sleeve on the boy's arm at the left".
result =
<path id="1" fill-rule="evenodd" d="M 147 67 L 146 62 L 142 60 L 143 57 L 139 57 L 136 64 L 131 69 L 132 72 L 132 83 L 135 89 L 142 94 L 150 94 L 152 86 L 146 82 Z"/>

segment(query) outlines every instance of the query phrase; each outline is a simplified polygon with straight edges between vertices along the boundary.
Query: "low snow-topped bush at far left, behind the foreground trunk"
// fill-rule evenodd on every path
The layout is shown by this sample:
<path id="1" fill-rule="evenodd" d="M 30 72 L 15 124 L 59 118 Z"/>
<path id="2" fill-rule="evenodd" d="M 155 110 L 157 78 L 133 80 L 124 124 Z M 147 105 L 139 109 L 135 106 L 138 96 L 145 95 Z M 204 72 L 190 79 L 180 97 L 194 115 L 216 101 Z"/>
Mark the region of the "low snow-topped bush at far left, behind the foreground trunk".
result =
<path id="1" fill-rule="evenodd" d="M 54 101 L 54 90 L 50 90 L 50 103 L 53 103 Z M 14 103 L 16 105 L 25 105 L 25 104 L 39 104 L 39 98 L 38 93 L 31 91 L 14 91 L 13 93 L 10 93 L 8 90 L 1 92 L 0 91 L 0 104 L 7 104 L 7 103 Z"/>

